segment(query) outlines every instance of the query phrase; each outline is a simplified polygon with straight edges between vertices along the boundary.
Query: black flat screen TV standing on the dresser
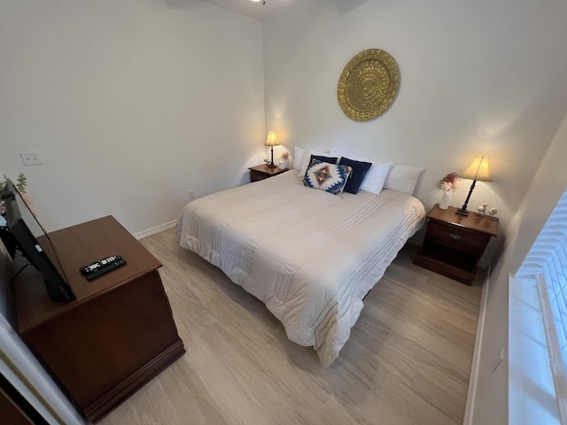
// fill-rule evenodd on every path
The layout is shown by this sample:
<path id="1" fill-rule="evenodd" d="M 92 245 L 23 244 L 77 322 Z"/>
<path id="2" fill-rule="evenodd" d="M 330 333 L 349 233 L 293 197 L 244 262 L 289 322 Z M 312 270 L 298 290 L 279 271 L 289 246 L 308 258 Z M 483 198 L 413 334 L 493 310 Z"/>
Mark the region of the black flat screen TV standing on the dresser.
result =
<path id="1" fill-rule="evenodd" d="M 43 231 L 35 214 L 10 180 L 6 180 L 4 189 L 0 193 L 0 211 L 2 214 L 0 238 L 12 259 L 15 258 L 17 251 L 21 252 L 28 264 L 42 274 L 45 289 L 52 301 L 73 301 L 75 299 L 73 290 L 66 282 L 63 272 L 59 272 L 58 267 L 55 267 L 44 251 L 43 245 L 38 242 L 36 238 L 38 235 L 32 233 L 28 224 L 40 228 L 43 233 L 41 239 L 48 244 L 50 244 L 49 235 Z M 22 218 L 22 213 L 26 215 L 26 220 Z M 50 251 L 55 252 L 51 248 L 50 246 Z"/>

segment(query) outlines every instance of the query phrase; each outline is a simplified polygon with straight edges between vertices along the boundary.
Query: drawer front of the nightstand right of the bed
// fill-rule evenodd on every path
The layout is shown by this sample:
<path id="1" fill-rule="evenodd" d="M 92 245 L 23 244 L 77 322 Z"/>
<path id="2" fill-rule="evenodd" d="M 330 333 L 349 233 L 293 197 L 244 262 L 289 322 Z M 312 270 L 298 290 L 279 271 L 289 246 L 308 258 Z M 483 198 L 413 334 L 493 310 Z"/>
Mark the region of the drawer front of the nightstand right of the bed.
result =
<path id="1" fill-rule="evenodd" d="M 466 229 L 447 226 L 435 221 L 429 223 L 426 237 L 430 243 L 439 243 L 456 251 L 471 254 L 481 254 L 490 240 L 490 237 L 476 235 Z"/>

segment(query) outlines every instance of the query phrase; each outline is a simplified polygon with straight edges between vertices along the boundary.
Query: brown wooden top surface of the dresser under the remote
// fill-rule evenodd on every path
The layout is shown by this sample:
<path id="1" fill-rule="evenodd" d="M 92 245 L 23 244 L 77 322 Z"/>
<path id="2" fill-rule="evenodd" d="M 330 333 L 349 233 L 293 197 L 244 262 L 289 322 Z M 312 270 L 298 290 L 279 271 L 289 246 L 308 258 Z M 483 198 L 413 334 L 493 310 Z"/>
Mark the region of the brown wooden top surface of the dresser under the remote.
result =
<path id="1" fill-rule="evenodd" d="M 51 301 L 42 275 L 34 267 L 26 267 L 14 282 L 20 332 L 161 267 L 159 260 L 110 215 L 57 230 L 49 236 L 57 257 L 53 258 L 55 252 L 45 251 L 54 264 L 60 264 L 59 272 L 65 276 L 76 300 Z M 41 242 L 40 238 L 38 241 Z M 79 271 L 80 267 L 110 255 L 122 256 L 127 264 L 90 282 Z"/>

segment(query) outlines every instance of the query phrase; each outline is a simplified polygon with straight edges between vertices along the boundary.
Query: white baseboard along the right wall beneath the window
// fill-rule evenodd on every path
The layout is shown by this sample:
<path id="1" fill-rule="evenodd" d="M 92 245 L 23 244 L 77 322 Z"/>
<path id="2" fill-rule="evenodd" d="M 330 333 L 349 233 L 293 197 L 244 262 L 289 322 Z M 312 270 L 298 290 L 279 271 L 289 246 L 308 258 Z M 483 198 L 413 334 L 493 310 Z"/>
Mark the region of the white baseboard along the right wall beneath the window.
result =
<path id="1" fill-rule="evenodd" d="M 477 337 L 475 338 L 475 350 L 472 354 L 472 365 L 470 366 L 469 391 L 467 393 L 467 406 L 465 406 L 464 420 L 462 425 L 473 425 L 473 413 L 477 396 L 478 363 L 482 351 L 483 334 L 485 331 L 486 297 L 490 286 L 490 263 L 481 260 L 479 267 L 485 268 L 485 282 L 482 286 L 480 298 L 480 311 L 478 312 Z"/>

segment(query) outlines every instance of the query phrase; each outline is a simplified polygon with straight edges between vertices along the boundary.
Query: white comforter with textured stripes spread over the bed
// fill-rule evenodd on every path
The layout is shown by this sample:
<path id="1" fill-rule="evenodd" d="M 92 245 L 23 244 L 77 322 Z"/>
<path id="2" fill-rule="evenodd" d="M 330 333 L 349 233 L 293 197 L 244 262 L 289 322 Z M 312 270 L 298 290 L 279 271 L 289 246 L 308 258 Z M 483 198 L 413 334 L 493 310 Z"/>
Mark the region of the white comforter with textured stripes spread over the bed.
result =
<path id="1" fill-rule="evenodd" d="M 362 298 L 423 225 L 416 197 L 330 195 L 297 172 L 223 190 L 186 205 L 177 241 L 259 298 L 297 344 L 330 366 Z"/>

